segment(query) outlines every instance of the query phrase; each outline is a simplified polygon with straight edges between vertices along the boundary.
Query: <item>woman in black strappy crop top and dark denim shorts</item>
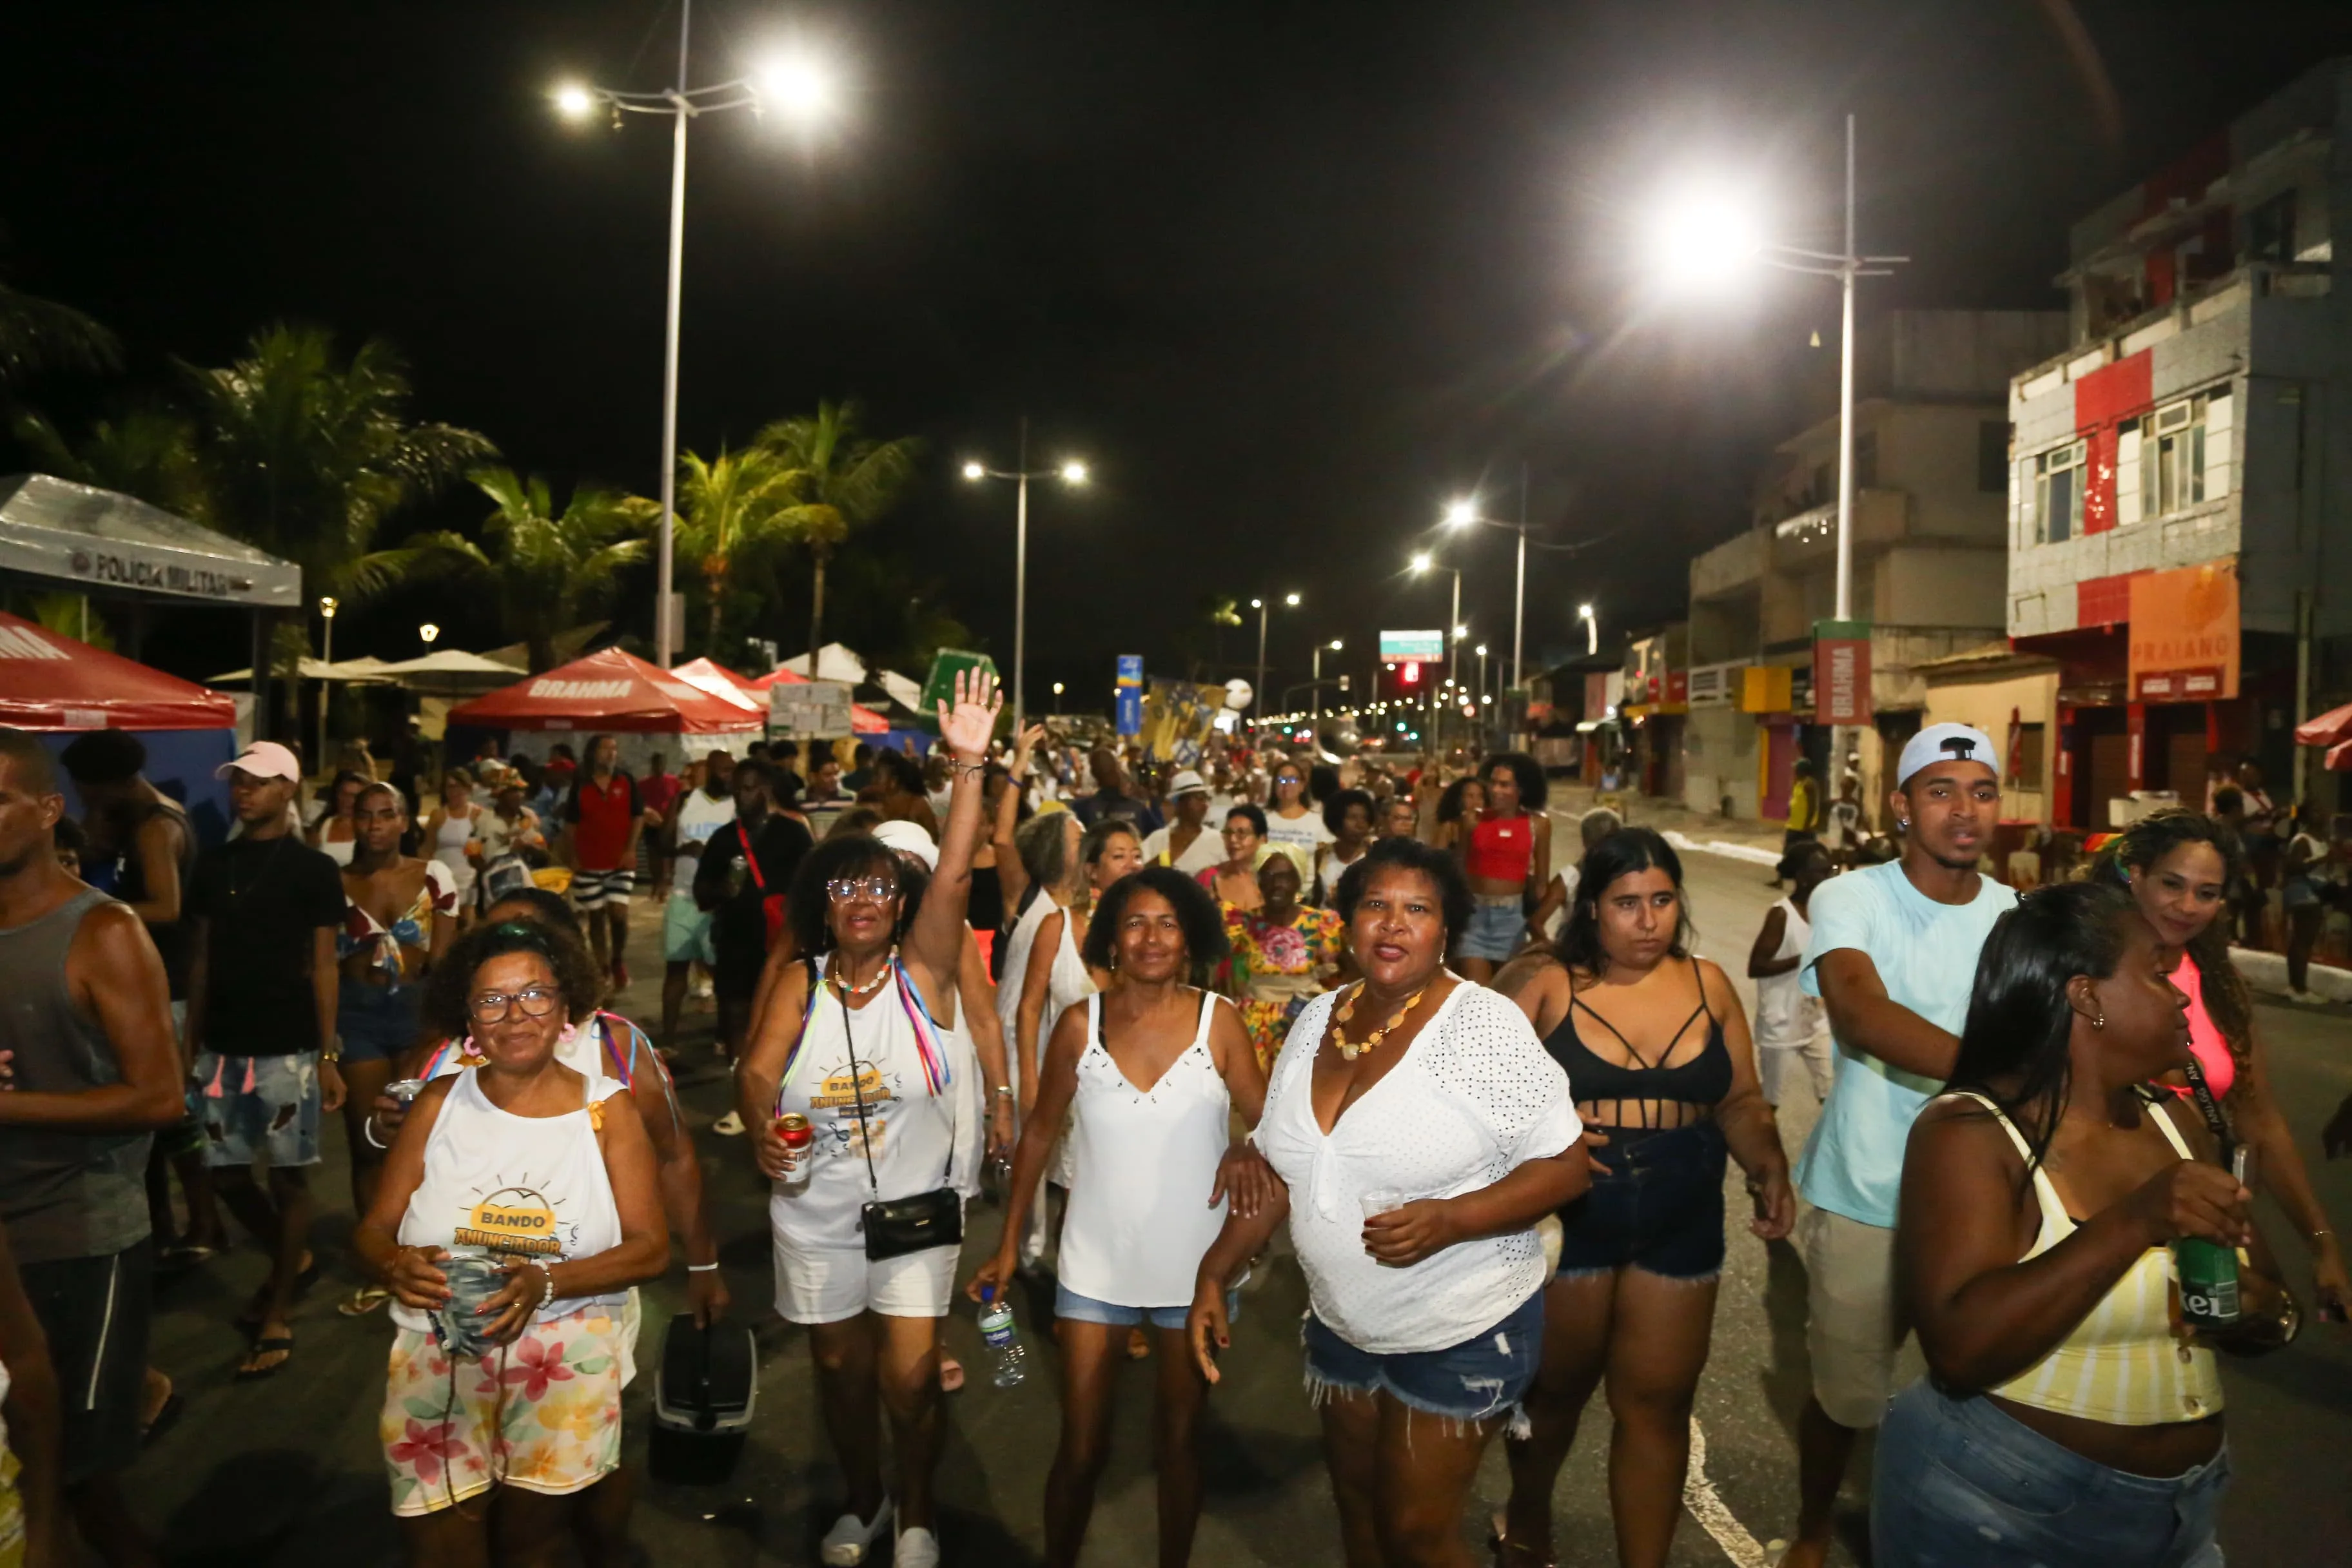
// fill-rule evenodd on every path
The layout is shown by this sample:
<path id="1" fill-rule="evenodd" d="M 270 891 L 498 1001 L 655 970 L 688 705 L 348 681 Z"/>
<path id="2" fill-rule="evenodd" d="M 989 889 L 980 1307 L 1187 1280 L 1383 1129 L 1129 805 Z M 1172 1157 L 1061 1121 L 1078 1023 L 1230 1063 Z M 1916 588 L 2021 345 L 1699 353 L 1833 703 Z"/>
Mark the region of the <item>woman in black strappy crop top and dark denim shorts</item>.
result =
<path id="1" fill-rule="evenodd" d="M 1724 1267 L 1726 1154 L 1748 1173 L 1757 1237 L 1780 1239 L 1797 1218 L 1748 1016 L 1724 971 L 1691 957 L 1682 860 L 1646 827 L 1585 853 L 1557 950 L 1515 959 L 1496 987 L 1566 1067 L 1592 1159 L 1590 1192 L 1559 1211 L 1531 1434 L 1508 1446 L 1496 1559 L 1552 1561 L 1552 1483 L 1606 1375 L 1618 1561 L 1665 1563 Z"/>

